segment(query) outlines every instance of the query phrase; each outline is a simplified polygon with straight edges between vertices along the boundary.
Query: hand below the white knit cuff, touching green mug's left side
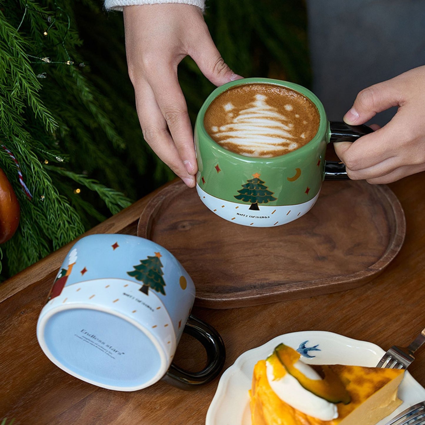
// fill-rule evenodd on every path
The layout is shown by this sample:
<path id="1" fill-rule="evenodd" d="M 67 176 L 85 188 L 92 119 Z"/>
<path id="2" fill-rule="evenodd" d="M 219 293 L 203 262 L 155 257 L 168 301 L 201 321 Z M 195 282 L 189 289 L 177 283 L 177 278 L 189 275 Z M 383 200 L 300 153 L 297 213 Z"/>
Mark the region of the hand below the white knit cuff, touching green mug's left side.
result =
<path id="1" fill-rule="evenodd" d="M 177 65 L 189 55 L 213 84 L 242 78 L 221 58 L 201 9 L 187 4 L 124 7 L 128 73 L 146 142 L 189 187 L 197 171 Z"/>

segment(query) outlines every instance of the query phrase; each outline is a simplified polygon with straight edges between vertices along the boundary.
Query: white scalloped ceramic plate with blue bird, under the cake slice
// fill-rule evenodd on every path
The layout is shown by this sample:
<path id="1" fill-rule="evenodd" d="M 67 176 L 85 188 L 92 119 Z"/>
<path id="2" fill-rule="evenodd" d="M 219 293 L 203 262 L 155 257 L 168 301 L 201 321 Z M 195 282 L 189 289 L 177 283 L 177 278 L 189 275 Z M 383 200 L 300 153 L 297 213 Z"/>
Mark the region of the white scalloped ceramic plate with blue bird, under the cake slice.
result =
<path id="1" fill-rule="evenodd" d="M 303 331 L 276 337 L 260 347 L 241 354 L 224 372 L 208 409 L 206 425 L 251 425 L 248 390 L 251 388 L 254 365 L 258 360 L 265 359 L 280 343 L 299 352 L 303 351 L 302 347 L 306 347 L 302 359 L 303 362 L 310 364 L 374 367 L 385 353 L 375 344 L 353 340 L 332 332 Z M 397 413 L 425 399 L 425 389 L 407 371 L 398 394 L 403 404 L 377 425 L 384 425 Z"/>

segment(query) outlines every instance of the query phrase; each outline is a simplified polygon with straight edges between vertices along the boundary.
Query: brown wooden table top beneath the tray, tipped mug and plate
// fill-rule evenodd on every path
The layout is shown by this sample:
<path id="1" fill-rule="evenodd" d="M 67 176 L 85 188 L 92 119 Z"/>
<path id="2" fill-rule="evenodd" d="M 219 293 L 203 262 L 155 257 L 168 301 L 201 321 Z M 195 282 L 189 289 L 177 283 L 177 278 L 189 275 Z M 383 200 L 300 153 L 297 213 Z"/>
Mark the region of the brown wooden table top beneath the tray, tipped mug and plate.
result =
<path id="1" fill-rule="evenodd" d="M 384 349 L 408 345 L 425 327 L 425 173 L 389 185 L 406 215 L 407 233 L 395 260 L 378 277 L 334 294 L 213 310 L 194 307 L 224 339 L 232 365 L 244 351 L 287 332 L 323 330 L 373 342 Z M 91 229 L 92 233 L 136 234 L 149 198 Z M 37 318 L 71 245 L 54 252 L 0 285 L 0 422 L 17 424 L 204 424 L 218 379 L 195 391 L 164 382 L 135 392 L 111 391 L 57 368 L 36 338 Z M 211 255 L 214 255 L 211 252 Z M 425 385 L 425 351 L 409 371 Z M 192 337 L 182 338 L 176 363 L 200 370 L 206 356 Z M 237 425 L 237 424 L 235 424 Z"/>

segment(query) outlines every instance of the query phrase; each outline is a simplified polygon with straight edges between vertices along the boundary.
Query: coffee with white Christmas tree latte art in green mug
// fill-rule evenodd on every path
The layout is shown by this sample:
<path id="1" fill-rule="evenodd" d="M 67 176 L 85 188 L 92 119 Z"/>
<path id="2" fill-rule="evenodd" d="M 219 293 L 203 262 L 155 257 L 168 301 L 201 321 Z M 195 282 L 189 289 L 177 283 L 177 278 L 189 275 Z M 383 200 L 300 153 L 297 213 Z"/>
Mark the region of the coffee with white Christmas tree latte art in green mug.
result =
<path id="1" fill-rule="evenodd" d="M 319 121 L 316 106 L 303 94 L 253 83 L 233 86 L 217 96 L 205 112 L 204 127 L 227 150 L 270 158 L 310 142 Z"/>

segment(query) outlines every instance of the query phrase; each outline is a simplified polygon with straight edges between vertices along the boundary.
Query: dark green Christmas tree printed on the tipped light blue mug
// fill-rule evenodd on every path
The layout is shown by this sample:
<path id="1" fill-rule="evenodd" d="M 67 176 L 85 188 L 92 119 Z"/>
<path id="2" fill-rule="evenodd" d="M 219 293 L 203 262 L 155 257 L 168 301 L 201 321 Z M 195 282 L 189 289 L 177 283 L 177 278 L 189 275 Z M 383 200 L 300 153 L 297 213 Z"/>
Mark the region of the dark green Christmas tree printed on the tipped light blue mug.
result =
<path id="1" fill-rule="evenodd" d="M 156 292 L 161 292 L 162 295 L 165 295 L 165 282 L 162 278 L 164 272 L 161 270 L 163 265 L 159 259 L 161 257 L 162 255 L 159 252 L 155 252 L 154 256 L 148 255 L 145 260 L 140 260 L 140 264 L 133 266 L 133 271 L 127 272 L 127 275 L 143 282 L 143 285 L 139 291 L 146 295 L 149 295 L 149 288 Z"/>

